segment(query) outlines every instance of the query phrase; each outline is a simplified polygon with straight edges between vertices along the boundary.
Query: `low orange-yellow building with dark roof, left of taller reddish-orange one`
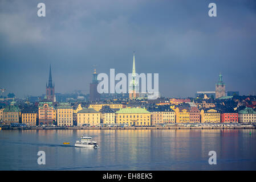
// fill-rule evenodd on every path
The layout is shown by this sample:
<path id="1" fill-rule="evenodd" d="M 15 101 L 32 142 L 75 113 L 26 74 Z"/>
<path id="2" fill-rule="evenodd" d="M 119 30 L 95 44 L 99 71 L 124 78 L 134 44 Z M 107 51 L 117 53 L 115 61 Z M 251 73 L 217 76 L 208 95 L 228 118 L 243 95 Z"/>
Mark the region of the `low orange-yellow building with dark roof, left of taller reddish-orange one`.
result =
<path id="1" fill-rule="evenodd" d="M 38 119 L 38 110 L 32 107 L 25 107 L 21 111 L 21 121 L 23 124 L 29 126 L 36 126 L 36 121 Z"/>

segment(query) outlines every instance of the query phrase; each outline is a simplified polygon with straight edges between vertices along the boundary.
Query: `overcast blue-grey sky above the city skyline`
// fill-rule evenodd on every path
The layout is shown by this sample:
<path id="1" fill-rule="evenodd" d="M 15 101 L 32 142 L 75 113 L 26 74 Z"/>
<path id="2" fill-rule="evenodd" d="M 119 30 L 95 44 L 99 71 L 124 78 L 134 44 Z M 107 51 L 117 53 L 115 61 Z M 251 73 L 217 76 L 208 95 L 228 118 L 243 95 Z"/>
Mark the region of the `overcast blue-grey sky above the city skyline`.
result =
<path id="1" fill-rule="evenodd" d="M 37 5 L 46 5 L 46 17 Z M 208 5 L 217 5 L 217 17 Z M 212 91 L 256 94 L 256 1 L 0 0 L 0 88 L 19 97 L 89 92 L 98 73 L 159 73 L 163 96 Z"/>

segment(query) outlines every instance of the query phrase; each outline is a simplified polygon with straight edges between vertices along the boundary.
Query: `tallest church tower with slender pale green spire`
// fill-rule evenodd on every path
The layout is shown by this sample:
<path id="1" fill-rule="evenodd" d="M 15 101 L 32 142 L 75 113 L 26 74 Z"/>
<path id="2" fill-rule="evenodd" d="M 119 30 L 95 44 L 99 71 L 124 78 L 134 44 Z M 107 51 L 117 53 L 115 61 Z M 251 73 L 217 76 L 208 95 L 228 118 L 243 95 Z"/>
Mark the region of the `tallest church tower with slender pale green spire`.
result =
<path id="1" fill-rule="evenodd" d="M 135 53 L 133 52 L 133 67 L 132 67 L 132 77 L 131 82 L 129 82 L 129 99 L 135 100 L 139 97 L 139 82 L 137 80 L 135 71 Z"/>

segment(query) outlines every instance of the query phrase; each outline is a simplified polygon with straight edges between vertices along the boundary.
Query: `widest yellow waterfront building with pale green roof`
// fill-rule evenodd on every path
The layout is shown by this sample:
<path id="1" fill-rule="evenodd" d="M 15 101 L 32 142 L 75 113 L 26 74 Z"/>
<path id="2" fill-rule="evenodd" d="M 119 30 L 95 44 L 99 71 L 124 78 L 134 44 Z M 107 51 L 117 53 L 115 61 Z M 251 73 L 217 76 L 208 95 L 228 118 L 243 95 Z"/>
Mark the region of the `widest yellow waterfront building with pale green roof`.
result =
<path id="1" fill-rule="evenodd" d="M 151 113 L 144 108 L 123 108 L 116 111 L 116 123 L 128 126 L 150 126 Z"/>

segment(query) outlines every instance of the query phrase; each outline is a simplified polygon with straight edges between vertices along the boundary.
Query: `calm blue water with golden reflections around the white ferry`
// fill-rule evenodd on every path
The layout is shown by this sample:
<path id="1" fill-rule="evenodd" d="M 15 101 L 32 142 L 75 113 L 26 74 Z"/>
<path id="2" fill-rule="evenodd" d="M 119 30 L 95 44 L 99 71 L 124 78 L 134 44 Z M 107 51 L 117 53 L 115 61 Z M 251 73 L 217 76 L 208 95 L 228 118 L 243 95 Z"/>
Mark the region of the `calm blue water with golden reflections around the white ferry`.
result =
<path id="1" fill-rule="evenodd" d="M 251 132 L 251 134 L 250 134 Z M 100 148 L 63 142 L 83 134 Z M 46 152 L 38 165 L 37 152 Z M 217 165 L 208 152 L 217 152 Z M 255 170 L 255 130 L 2 130 L 1 170 Z"/>

